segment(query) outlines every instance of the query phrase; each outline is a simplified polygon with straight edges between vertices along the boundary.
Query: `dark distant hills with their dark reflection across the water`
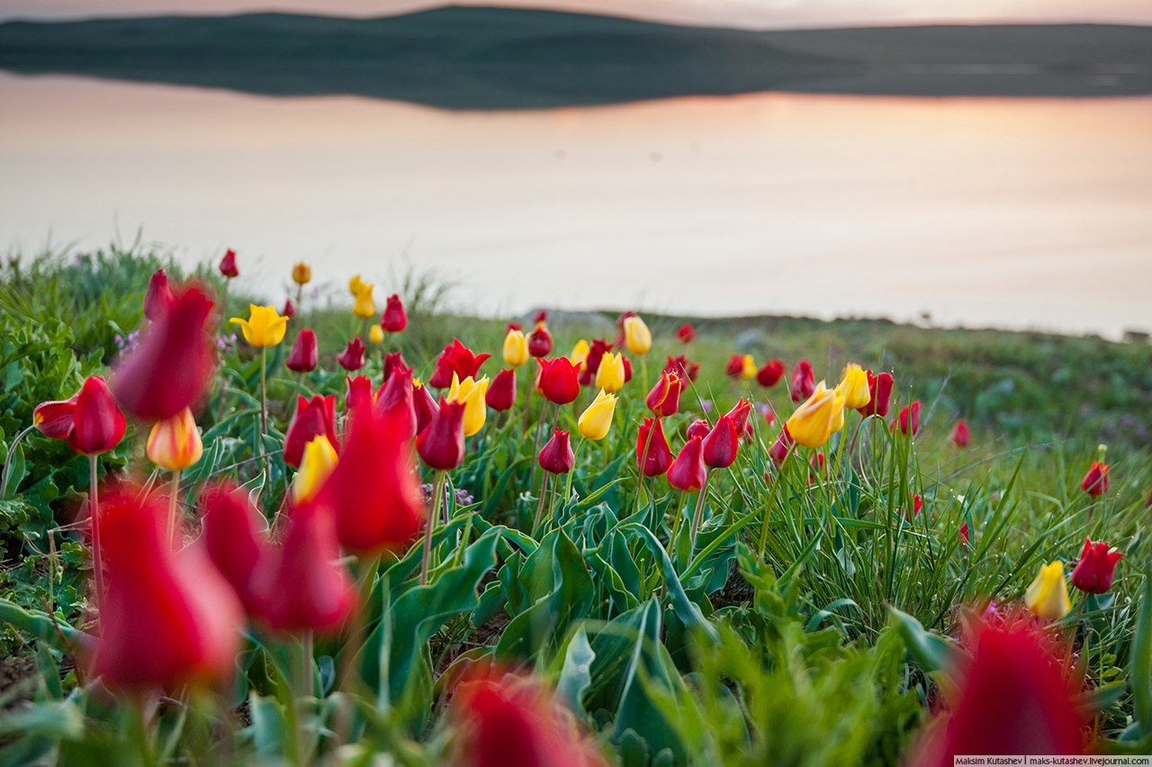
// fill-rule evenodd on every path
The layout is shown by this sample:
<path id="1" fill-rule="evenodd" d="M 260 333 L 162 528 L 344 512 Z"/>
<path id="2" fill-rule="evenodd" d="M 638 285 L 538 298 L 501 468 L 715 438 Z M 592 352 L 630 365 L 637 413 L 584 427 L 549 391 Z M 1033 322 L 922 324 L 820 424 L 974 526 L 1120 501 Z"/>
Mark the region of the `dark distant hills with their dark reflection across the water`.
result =
<path id="1" fill-rule="evenodd" d="M 0 24 L 0 68 L 458 109 L 768 90 L 1127 96 L 1152 93 L 1152 28 L 755 32 L 507 8 L 167 16 Z"/>

